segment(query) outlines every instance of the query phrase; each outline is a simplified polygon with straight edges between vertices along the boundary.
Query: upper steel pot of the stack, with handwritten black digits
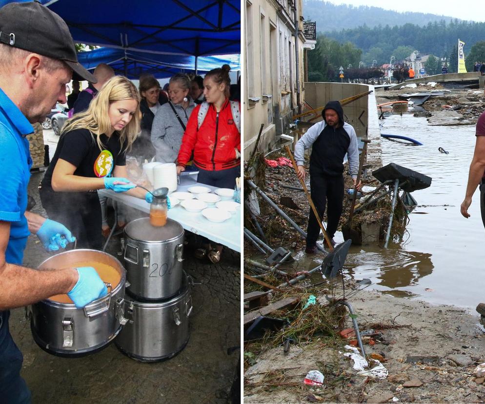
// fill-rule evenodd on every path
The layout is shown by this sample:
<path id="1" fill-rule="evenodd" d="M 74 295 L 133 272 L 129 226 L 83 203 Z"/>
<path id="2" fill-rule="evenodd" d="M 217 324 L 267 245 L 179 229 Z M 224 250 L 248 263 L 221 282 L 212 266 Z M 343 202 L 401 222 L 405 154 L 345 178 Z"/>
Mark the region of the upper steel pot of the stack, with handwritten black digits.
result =
<path id="1" fill-rule="evenodd" d="M 127 291 L 142 300 L 170 299 L 182 287 L 183 228 L 171 219 L 154 227 L 149 218 L 124 228 Z"/>

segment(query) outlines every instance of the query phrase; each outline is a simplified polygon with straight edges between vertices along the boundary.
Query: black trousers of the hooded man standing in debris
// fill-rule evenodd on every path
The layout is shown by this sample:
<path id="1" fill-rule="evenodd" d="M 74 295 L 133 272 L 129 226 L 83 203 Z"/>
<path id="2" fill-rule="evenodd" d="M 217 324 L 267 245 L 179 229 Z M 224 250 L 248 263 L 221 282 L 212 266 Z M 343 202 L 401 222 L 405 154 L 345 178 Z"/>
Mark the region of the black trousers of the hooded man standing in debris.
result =
<path id="1" fill-rule="evenodd" d="M 311 198 L 320 218 L 323 218 L 327 207 L 327 234 L 333 238 L 342 215 L 342 203 L 344 202 L 344 177 L 329 177 L 320 173 L 310 174 Z M 306 245 L 313 247 L 317 243 L 320 234 L 320 225 L 310 208 L 308 228 L 306 230 Z"/>

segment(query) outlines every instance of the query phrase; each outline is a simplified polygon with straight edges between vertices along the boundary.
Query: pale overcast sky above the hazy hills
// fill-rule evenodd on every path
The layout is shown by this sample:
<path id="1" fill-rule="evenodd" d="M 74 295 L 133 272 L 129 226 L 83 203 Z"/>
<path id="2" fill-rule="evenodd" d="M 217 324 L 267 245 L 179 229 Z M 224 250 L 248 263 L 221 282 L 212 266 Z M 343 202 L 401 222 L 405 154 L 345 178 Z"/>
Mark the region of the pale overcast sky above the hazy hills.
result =
<path id="1" fill-rule="evenodd" d="M 448 0 L 424 0 L 424 1 L 400 1 L 384 3 L 382 0 L 327 0 L 334 4 L 352 4 L 354 6 L 373 6 L 399 12 L 415 11 L 419 13 L 431 13 L 461 20 L 485 21 L 485 13 L 481 10 L 483 3 L 474 1 L 448 1 Z M 465 4 L 465 7 L 463 6 Z M 482 4 L 482 5 L 480 5 Z M 384 21 L 382 21 L 384 22 Z"/>

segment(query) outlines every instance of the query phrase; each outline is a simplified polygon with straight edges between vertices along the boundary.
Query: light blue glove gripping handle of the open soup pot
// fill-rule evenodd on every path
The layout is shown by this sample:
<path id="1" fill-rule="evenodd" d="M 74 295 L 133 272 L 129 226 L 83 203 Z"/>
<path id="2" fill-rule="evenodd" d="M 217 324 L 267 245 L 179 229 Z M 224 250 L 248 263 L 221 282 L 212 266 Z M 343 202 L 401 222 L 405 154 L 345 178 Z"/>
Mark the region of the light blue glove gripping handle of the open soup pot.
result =
<path id="1" fill-rule="evenodd" d="M 76 307 L 84 307 L 103 296 L 108 294 L 108 288 L 101 281 L 98 272 L 92 266 L 81 266 L 76 268 L 79 274 L 79 280 L 67 293 Z"/>

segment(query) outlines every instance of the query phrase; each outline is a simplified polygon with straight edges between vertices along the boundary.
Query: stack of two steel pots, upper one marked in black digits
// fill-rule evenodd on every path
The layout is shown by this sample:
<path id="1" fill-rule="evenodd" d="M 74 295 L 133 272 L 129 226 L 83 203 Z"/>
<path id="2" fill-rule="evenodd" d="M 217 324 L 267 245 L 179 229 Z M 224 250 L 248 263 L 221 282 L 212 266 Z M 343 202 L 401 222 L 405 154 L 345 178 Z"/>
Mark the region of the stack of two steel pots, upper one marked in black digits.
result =
<path id="1" fill-rule="evenodd" d="M 182 269 L 183 235 L 182 226 L 170 219 L 154 227 L 141 218 L 124 228 L 128 321 L 115 344 L 133 359 L 168 359 L 188 342 L 192 299 Z"/>

